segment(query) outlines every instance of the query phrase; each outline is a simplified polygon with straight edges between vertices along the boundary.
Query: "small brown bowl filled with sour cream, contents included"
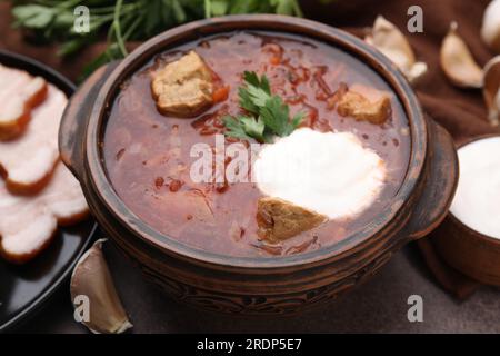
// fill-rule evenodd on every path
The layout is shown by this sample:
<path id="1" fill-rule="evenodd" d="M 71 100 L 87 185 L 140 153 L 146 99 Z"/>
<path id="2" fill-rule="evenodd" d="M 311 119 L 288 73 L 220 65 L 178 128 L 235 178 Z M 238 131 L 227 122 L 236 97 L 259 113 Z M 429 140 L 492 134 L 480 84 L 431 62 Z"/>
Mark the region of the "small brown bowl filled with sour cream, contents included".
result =
<path id="1" fill-rule="evenodd" d="M 458 157 L 457 192 L 434 243 L 459 271 L 500 286 L 500 136 L 469 141 Z"/>

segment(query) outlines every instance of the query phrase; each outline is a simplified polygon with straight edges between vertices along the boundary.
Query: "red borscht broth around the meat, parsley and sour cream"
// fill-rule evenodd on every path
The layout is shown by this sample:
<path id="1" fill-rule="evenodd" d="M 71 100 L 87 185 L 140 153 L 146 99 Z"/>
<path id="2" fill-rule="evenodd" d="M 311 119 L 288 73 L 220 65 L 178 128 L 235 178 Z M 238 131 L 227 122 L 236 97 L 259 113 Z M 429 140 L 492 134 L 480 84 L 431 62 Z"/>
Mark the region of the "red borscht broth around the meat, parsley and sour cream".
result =
<path id="1" fill-rule="evenodd" d="M 194 118 L 163 116 L 151 96 L 151 72 L 189 50 L 196 50 L 213 70 L 218 102 Z M 262 192 L 256 184 L 192 182 L 190 166 L 198 157 L 190 156 L 191 147 L 198 142 L 214 147 L 214 135 L 224 132 L 221 118 L 241 112 L 238 87 L 244 71 L 266 73 L 273 93 L 290 105 L 292 115 L 307 113 L 302 126 L 352 132 L 386 161 L 387 182 L 368 209 L 354 218 L 330 220 L 271 245 L 257 235 L 257 200 Z M 390 93 L 390 120 L 372 125 L 341 117 L 331 109 L 329 99 L 334 92 L 354 83 Z M 226 141 L 230 145 L 234 139 Z M 141 220 L 193 247 L 241 257 L 311 251 L 366 227 L 397 194 L 408 168 L 410 149 L 404 110 L 389 85 L 372 69 L 326 43 L 267 32 L 227 33 L 158 55 L 121 86 L 110 108 L 103 140 L 109 179 Z M 193 208 L 186 198 L 187 191 L 191 197 L 201 197 L 203 206 Z"/>

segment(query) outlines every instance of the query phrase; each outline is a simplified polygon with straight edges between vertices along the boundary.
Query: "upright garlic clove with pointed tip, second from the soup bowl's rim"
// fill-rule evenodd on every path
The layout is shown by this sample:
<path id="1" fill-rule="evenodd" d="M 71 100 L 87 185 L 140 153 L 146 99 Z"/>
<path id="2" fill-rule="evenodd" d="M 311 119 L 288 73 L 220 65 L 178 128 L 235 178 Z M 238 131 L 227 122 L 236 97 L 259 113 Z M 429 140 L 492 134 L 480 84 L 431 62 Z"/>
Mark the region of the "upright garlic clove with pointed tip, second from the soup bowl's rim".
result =
<path id="1" fill-rule="evenodd" d="M 482 69 L 473 59 L 469 48 L 457 33 L 458 24 L 452 22 L 441 44 L 441 68 L 448 79 L 461 88 L 481 88 Z"/>

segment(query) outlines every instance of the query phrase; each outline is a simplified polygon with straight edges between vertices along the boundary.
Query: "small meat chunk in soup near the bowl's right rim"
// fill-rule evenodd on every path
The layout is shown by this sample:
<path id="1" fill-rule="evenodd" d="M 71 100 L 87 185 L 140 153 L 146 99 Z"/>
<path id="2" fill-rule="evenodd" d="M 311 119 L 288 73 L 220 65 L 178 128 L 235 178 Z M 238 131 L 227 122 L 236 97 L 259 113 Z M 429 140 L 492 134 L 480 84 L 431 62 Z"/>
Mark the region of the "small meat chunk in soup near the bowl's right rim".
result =
<path id="1" fill-rule="evenodd" d="M 384 95 L 379 95 L 377 100 L 370 100 L 363 93 L 350 89 L 340 99 L 337 111 L 343 117 L 353 117 L 358 121 L 380 125 L 386 122 L 391 115 L 391 101 Z"/>

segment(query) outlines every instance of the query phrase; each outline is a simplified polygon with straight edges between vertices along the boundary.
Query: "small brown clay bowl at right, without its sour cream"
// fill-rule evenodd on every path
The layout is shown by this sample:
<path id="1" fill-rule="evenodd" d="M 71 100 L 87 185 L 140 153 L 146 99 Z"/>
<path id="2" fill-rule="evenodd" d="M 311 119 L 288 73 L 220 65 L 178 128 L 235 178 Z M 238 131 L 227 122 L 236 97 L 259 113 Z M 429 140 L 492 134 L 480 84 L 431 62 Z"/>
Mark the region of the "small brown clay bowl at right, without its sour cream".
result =
<path id="1" fill-rule="evenodd" d="M 478 140 L 498 136 L 474 138 L 460 145 L 459 150 Z M 457 270 L 480 283 L 500 286 L 500 239 L 471 229 L 449 211 L 432 241 L 439 255 Z"/>

